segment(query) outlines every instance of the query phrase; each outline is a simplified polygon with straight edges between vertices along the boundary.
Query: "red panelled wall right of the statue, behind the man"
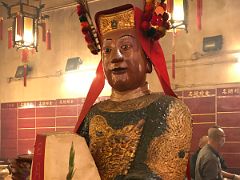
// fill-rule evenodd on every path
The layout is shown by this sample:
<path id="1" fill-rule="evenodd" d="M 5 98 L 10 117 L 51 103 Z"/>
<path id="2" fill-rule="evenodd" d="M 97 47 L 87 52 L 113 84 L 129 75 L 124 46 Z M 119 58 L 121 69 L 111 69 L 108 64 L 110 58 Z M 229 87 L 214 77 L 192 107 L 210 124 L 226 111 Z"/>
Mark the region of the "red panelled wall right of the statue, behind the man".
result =
<path id="1" fill-rule="evenodd" d="M 191 151 L 209 127 L 219 125 L 226 134 L 221 153 L 229 171 L 240 174 L 240 87 L 184 91 L 182 99 L 193 117 Z"/>

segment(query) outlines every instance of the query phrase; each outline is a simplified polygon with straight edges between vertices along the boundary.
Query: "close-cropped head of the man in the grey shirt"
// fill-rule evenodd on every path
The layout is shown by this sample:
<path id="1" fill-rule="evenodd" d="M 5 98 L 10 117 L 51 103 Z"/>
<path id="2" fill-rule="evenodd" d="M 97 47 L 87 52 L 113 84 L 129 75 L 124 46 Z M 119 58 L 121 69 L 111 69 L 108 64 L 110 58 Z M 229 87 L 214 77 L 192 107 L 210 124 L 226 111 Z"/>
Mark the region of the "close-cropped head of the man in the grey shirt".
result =
<path id="1" fill-rule="evenodd" d="M 225 143 L 225 133 L 219 126 L 213 126 L 208 129 L 208 143 L 215 148 L 221 148 Z"/>

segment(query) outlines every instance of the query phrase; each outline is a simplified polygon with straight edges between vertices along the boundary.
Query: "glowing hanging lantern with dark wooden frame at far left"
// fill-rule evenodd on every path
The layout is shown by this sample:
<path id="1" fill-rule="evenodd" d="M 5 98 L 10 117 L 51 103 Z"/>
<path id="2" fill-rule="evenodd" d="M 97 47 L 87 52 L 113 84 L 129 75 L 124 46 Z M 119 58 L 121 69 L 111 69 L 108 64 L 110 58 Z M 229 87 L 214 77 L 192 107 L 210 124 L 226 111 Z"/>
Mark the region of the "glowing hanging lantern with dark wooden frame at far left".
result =
<path id="1" fill-rule="evenodd" d="M 38 45 L 38 24 L 41 19 L 41 10 L 44 5 L 35 7 L 19 1 L 15 5 L 9 6 L 2 2 L 8 10 L 8 18 L 13 18 L 13 47 L 17 49 L 35 49 Z"/>

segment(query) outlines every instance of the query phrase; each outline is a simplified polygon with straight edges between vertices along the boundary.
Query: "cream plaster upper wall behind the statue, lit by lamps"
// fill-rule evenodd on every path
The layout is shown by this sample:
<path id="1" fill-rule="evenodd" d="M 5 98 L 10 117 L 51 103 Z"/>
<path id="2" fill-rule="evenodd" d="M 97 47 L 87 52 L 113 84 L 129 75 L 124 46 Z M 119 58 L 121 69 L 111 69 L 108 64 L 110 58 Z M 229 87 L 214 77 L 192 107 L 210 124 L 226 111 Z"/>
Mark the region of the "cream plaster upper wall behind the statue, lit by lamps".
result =
<path id="1" fill-rule="evenodd" d="M 109 0 L 105 0 L 105 3 L 91 3 L 90 8 L 105 8 L 110 2 L 113 3 Z M 114 1 L 115 4 L 118 2 Z M 178 32 L 175 41 L 177 69 L 176 79 L 172 80 L 174 87 L 200 88 L 202 85 L 210 87 L 240 82 L 240 68 L 236 70 L 237 63 L 232 62 L 236 58 L 227 54 L 229 51 L 240 49 L 239 7 L 238 0 L 203 0 L 202 30 L 198 31 L 195 20 L 196 1 L 189 1 L 189 32 Z M 3 7 L 0 7 L 0 12 L 5 12 Z M 7 48 L 7 27 L 11 25 L 11 21 L 4 21 L 4 40 L 0 41 L 1 102 L 85 97 L 100 56 L 91 55 L 86 48 L 74 7 L 54 10 L 47 14 L 50 15 L 48 25 L 52 32 L 52 50 L 46 50 L 46 44 L 41 41 L 40 29 L 38 52 L 29 58 L 33 71 L 27 81 L 27 87 L 23 86 L 22 80 L 8 82 L 8 78 L 14 76 L 17 66 L 21 65 L 21 57 L 16 49 Z M 3 16 L 6 18 L 5 14 Z M 203 37 L 214 35 L 223 35 L 223 49 L 213 55 L 205 54 L 207 56 L 204 58 L 191 60 L 194 52 L 204 54 Z M 160 42 L 171 72 L 172 33 L 167 33 Z M 66 80 L 69 74 L 59 76 L 59 71 L 64 73 L 67 59 L 76 56 L 81 57 L 83 64 L 78 77 L 70 83 Z M 154 74 L 149 76 L 148 80 L 153 91 L 161 90 Z M 108 95 L 109 92 L 108 87 L 103 95 Z"/>

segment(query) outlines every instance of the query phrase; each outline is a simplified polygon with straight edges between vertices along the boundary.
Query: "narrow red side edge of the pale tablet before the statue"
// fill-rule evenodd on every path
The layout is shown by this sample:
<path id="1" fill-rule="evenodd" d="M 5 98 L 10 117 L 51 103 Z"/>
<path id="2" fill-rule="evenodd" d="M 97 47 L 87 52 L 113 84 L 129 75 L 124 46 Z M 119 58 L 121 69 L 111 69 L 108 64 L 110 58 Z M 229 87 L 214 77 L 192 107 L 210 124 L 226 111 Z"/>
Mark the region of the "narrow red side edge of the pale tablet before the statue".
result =
<path id="1" fill-rule="evenodd" d="M 37 135 L 34 156 L 32 164 L 32 180 L 43 180 L 44 179 L 44 159 L 45 159 L 45 145 L 46 136 Z"/>

